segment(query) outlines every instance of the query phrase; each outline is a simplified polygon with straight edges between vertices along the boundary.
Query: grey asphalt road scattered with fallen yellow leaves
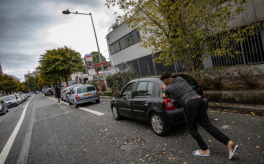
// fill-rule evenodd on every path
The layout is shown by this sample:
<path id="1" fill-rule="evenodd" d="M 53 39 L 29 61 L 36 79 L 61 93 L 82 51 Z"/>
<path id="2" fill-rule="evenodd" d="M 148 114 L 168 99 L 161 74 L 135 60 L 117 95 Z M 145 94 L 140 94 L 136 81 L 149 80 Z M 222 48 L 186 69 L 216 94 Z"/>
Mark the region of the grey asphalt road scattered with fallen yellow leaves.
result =
<path id="1" fill-rule="evenodd" d="M 234 159 L 228 160 L 225 145 L 200 126 L 209 157 L 192 154 L 199 147 L 184 123 L 159 137 L 149 123 L 127 118 L 116 121 L 109 99 L 75 109 L 66 102 L 59 105 L 54 96 L 31 94 L 26 102 L 0 116 L 0 164 L 264 163 L 263 117 L 219 111 L 208 111 L 208 116 L 239 145 Z"/>

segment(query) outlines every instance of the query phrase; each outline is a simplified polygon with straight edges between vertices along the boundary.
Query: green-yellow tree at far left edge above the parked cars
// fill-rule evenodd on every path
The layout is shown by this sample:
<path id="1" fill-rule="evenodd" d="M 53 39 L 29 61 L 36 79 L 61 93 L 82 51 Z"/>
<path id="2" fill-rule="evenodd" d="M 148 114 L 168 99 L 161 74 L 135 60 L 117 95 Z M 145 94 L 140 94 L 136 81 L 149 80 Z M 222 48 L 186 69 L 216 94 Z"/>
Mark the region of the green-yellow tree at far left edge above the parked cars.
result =
<path id="1" fill-rule="evenodd" d="M 19 90 L 19 79 L 12 75 L 0 75 L 0 91 L 6 94 Z"/>

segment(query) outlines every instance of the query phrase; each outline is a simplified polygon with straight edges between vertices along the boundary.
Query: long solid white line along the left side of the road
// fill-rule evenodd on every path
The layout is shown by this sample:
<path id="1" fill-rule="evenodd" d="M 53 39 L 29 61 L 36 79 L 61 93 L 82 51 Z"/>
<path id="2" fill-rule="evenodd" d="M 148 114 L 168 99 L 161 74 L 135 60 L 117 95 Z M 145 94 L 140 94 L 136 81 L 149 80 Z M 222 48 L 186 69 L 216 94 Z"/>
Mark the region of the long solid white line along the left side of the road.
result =
<path id="1" fill-rule="evenodd" d="M 32 96 L 32 98 L 33 98 L 33 96 Z M 30 100 L 32 98 L 30 98 Z M 26 107 L 27 107 L 28 103 L 30 102 L 30 100 L 27 102 Z M 0 154 L 0 164 L 4 164 L 5 159 L 6 159 L 8 153 L 9 153 L 11 147 L 12 147 L 12 144 L 13 144 L 15 138 L 16 138 L 17 132 L 18 132 L 18 130 L 19 130 L 19 128 L 20 128 L 20 126 L 21 126 L 21 124 L 23 122 L 24 117 L 25 117 L 26 107 L 24 108 L 24 110 L 22 112 L 22 115 L 21 115 L 21 117 L 20 117 L 20 119 L 19 119 L 19 121 L 18 121 L 18 123 L 17 123 L 17 125 L 16 125 L 16 127 L 15 127 L 15 129 L 13 131 L 13 133 L 9 137 L 7 143 L 5 144 L 5 147 L 3 148 L 3 150 L 2 150 L 2 152 Z"/>

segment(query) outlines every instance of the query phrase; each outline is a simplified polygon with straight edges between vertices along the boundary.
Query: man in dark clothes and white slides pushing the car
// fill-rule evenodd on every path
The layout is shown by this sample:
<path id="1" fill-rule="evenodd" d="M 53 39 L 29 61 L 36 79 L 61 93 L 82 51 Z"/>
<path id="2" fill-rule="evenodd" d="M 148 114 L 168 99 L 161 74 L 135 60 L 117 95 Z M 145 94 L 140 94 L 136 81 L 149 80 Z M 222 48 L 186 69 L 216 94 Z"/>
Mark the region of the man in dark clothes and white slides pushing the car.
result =
<path id="1" fill-rule="evenodd" d="M 193 155 L 210 155 L 210 150 L 197 131 L 196 122 L 198 122 L 211 136 L 227 146 L 229 151 L 228 159 L 232 159 L 238 150 L 238 145 L 234 147 L 234 142 L 230 141 L 227 136 L 210 123 L 203 99 L 190 87 L 186 80 L 181 77 L 172 79 L 171 74 L 168 72 L 162 73 L 160 80 L 164 83 L 164 85 L 160 86 L 164 90 L 164 93 L 161 93 L 160 97 L 169 98 L 169 96 L 172 96 L 184 106 L 186 128 L 201 148 L 200 150 L 193 151 Z"/>

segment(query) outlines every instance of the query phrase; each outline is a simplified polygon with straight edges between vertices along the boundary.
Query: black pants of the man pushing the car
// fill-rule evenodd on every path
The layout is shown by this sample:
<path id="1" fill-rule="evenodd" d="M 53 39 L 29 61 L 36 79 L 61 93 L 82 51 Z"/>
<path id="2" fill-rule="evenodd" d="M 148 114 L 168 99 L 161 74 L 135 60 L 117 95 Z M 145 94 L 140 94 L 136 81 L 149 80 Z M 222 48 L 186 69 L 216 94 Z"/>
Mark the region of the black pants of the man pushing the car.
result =
<path id="1" fill-rule="evenodd" d="M 196 121 L 203 129 L 205 129 L 219 142 L 227 145 L 228 141 L 230 141 L 227 136 L 225 136 L 217 127 L 210 123 L 207 116 L 207 110 L 205 109 L 205 103 L 202 98 L 193 98 L 189 100 L 184 107 L 184 116 L 187 130 L 202 150 L 207 150 L 208 148 L 201 135 L 197 131 L 198 128 Z"/>

